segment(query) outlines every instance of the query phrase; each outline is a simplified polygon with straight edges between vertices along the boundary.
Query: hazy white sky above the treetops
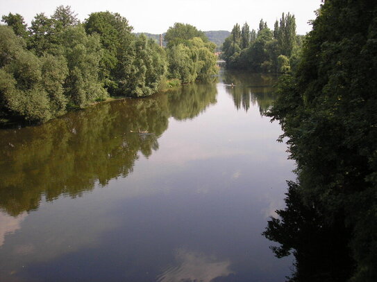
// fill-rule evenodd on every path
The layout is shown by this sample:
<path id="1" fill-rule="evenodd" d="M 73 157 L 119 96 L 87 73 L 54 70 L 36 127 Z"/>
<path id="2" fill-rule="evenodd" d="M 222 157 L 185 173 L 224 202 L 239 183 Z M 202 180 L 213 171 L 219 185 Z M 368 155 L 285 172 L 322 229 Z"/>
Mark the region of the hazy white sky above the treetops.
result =
<path id="1" fill-rule="evenodd" d="M 0 0 L 1 15 L 21 14 L 28 24 L 40 12 L 51 15 L 57 6 L 71 6 L 84 20 L 91 12 L 109 10 L 126 17 L 134 31 L 164 33 L 175 22 L 192 24 L 200 30 L 231 30 L 236 23 L 248 22 L 258 28 L 261 18 L 270 28 L 282 12 L 296 17 L 297 33 L 310 31 L 310 19 L 321 0 Z"/>

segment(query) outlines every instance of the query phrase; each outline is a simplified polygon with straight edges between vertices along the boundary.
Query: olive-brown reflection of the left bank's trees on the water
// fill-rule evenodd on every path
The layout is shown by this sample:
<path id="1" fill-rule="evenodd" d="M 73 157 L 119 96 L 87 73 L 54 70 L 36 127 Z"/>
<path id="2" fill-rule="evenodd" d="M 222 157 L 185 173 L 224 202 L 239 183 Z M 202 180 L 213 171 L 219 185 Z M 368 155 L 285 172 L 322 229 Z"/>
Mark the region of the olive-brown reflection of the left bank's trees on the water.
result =
<path id="1" fill-rule="evenodd" d="M 158 150 L 168 118 L 193 118 L 216 102 L 214 84 L 165 95 L 102 103 L 47 124 L 0 131 L 0 207 L 9 215 L 65 194 L 91 191 L 132 173 L 141 153 Z M 149 134 L 139 134 L 139 130 Z"/>

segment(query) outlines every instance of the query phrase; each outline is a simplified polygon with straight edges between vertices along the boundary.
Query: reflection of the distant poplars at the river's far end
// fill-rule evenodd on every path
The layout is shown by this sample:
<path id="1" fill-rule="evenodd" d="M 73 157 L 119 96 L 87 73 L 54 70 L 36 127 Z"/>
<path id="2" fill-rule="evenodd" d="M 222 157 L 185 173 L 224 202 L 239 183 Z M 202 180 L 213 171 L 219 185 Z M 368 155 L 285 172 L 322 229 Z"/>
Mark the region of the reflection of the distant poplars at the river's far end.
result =
<path id="1" fill-rule="evenodd" d="M 276 76 L 224 71 L 222 78 L 226 85 L 226 91 L 233 97 L 237 109 L 242 107 L 247 112 L 250 105 L 258 104 L 260 114 L 265 114 L 271 107 L 274 101 Z"/>

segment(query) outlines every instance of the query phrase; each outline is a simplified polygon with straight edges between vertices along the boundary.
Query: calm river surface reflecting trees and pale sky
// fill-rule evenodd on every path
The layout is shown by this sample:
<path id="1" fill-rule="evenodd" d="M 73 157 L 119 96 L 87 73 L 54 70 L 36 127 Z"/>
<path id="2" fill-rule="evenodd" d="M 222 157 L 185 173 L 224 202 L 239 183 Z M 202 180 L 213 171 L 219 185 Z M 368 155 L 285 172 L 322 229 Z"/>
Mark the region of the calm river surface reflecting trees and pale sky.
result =
<path id="1" fill-rule="evenodd" d="M 0 281 L 284 281 L 261 236 L 294 179 L 262 116 L 275 81 L 222 71 L 0 130 Z"/>

